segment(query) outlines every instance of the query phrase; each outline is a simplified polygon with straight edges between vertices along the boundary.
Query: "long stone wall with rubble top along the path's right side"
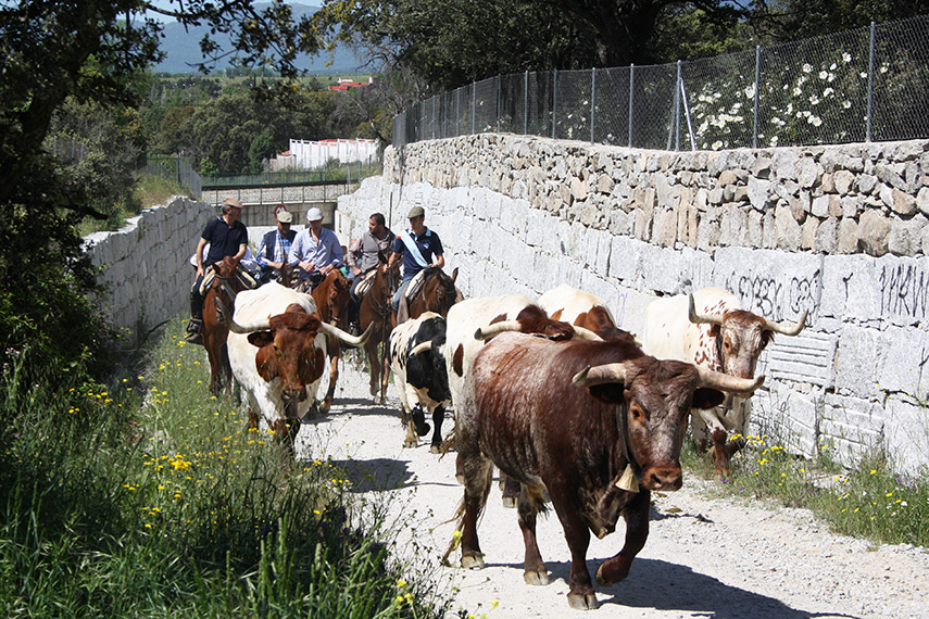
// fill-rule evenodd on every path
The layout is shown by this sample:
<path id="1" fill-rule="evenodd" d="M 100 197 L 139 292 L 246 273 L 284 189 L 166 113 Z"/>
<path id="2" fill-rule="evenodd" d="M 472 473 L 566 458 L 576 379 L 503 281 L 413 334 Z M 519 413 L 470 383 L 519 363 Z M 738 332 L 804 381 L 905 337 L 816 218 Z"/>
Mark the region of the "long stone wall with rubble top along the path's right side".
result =
<path id="1" fill-rule="evenodd" d="M 929 142 L 660 152 L 479 135 L 388 149 L 337 231 L 426 209 L 466 295 L 601 296 L 641 332 L 656 295 L 719 286 L 767 317 L 752 430 L 852 464 L 929 463 Z"/>

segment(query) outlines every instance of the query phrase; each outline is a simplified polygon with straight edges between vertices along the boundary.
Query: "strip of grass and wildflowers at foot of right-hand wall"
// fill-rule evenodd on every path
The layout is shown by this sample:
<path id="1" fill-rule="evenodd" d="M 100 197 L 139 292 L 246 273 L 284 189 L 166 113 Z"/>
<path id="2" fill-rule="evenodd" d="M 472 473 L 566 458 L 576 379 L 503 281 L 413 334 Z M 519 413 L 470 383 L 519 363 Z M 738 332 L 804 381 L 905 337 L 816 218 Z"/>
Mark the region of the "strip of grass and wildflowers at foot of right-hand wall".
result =
<path id="1" fill-rule="evenodd" d="M 837 465 L 828 449 L 816 460 L 790 455 L 777 440 L 748 437 L 718 492 L 811 509 L 830 528 L 876 543 L 929 546 L 929 479 L 895 473 L 881 454 L 853 470 Z M 688 442 L 681 456 L 690 472 L 713 479 L 708 456 Z"/>

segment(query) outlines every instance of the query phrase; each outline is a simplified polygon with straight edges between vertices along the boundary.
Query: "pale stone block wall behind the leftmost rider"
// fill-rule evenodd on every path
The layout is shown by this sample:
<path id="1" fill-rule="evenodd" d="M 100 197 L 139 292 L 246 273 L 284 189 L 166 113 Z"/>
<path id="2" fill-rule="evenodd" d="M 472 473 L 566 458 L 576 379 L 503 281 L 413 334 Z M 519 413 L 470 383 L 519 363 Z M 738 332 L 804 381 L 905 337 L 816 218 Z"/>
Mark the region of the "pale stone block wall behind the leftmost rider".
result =
<path id="1" fill-rule="evenodd" d="M 120 230 L 85 237 L 85 251 L 102 267 L 98 281 L 106 287 L 98 303 L 131 339 L 189 313 L 193 268 L 187 261 L 215 215 L 205 202 L 175 197 L 146 209 Z"/>

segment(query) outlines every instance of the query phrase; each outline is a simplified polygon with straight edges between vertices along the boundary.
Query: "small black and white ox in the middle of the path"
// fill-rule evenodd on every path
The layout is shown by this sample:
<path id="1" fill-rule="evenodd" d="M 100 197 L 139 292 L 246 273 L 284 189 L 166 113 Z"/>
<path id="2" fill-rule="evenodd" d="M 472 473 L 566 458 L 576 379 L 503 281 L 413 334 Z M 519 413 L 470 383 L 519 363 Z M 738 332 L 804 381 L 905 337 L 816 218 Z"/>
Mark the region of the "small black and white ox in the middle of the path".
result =
<path id="1" fill-rule="evenodd" d="M 416 446 L 417 434 L 423 437 L 429 432 L 424 406 L 436 427 L 429 449 L 438 453 L 442 444 L 442 420 L 451 397 L 442 355 L 444 343 L 445 319 L 435 312 L 406 320 L 390 332 L 388 355 L 400 392 L 401 417 L 406 426 L 404 447 Z M 415 405 L 412 409 L 411 403 Z"/>

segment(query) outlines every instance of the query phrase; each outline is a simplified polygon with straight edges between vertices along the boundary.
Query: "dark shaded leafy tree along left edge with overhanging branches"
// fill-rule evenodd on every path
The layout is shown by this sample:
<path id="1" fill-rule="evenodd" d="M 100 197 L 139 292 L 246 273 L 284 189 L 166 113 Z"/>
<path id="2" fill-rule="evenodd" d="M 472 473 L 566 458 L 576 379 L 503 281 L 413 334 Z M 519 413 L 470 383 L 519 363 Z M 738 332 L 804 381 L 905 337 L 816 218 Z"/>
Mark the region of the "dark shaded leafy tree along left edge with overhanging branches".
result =
<path id="1" fill-rule="evenodd" d="M 104 110 L 139 101 L 140 74 L 162 55 L 161 26 L 147 10 L 230 34 L 228 50 L 209 38 L 201 42 L 204 66 L 237 54 L 240 64 L 263 64 L 290 78 L 298 51 L 317 50 L 309 22 L 293 21 L 279 0 L 263 9 L 250 0 L 163 7 L 146 0 L 0 4 L 0 350 L 28 344 L 36 364 L 49 370 L 100 358 L 100 323 L 86 296 L 93 271 L 76 225 L 85 215 L 105 218 L 95 204 L 108 198 L 105 188 L 43 150 L 55 113 L 70 98 Z"/>

